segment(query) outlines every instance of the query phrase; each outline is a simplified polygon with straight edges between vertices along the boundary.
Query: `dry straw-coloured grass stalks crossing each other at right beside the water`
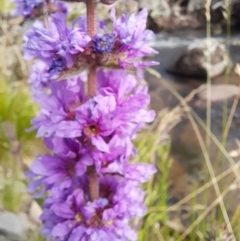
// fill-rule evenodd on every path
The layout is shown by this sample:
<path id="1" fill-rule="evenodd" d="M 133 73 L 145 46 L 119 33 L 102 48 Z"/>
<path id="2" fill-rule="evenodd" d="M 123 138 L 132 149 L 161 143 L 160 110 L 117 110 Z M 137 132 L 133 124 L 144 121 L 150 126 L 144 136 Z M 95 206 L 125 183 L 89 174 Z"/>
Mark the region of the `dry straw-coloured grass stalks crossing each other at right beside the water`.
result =
<path id="1" fill-rule="evenodd" d="M 159 78 L 159 81 L 161 81 L 161 76 L 153 69 L 148 69 L 148 71 L 155 75 L 156 77 Z M 221 141 L 219 141 L 216 136 L 214 136 L 214 134 L 210 131 L 209 128 L 207 128 L 206 124 L 204 123 L 204 121 L 197 115 L 197 113 L 188 105 L 187 100 L 189 100 L 189 98 L 187 97 L 186 99 L 183 99 L 172 87 L 170 84 L 168 84 L 165 81 L 161 81 L 161 84 L 164 85 L 176 98 L 179 99 L 179 102 L 182 104 L 183 109 L 186 111 L 187 116 L 191 122 L 191 124 L 194 127 L 194 130 L 196 132 L 196 135 L 198 136 L 198 139 L 200 141 L 200 146 L 202 146 L 202 151 L 203 151 L 203 155 L 205 157 L 206 162 L 208 163 L 208 170 L 209 172 L 212 172 L 213 169 L 210 166 L 210 160 L 209 160 L 209 153 L 206 149 L 206 145 L 203 141 L 203 138 L 200 134 L 199 131 L 199 126 L 206 132 L 206 134 L 209 136 L 210 140 L 213 141 L 219 148 L 220 152 L 222 153 L 223 156 L 226 157 L 226 159 L 230 162 L 230 168 L 227 171 L 222 172 L 220 175 L 218 175 L 217 177 L 215 177 L 215 174 L 212 173 L 211 179 L 210 181 L 206 182 L 202 187 L 198 188 L 196 191 L 194 191 L 193 193 L 189 194 L 187 197 L 185 197 L 184 199 L 182 199 L 181 201 L 179 201 L 179 203 L 171 206 L 171 207 L 167 207 L 165 210 L 162 211 L 162 215 L 166 214 L 168 211 L 170 210 L 176 210 L 178 208 L 181 207 L 182 204 L 187 203 L 188 201 L 193 200 L 192 203 L 192 210 L 194 210 L 194 205 L 196 205 L 196 203 L 194 202 L 196 199 L 196 196 L 199 193 L 204 192 L 206 189 L 208 189 L 209 187 L 211 187 L 212 185 L 217 184 L 220 180 L 222 180 L 223 178 L 225 178 L 228 175 L 235 175 L 235 180 L 232 182 L 231 185 L 228 185 L 227 187 L 224 188 L 223 191 L 221 191 L 221 193 L 217 193 L 217 199 L 214 200 L 206 209 L 204 212 L 202 212 L 199 217 L 197 219 L 195 219 L 193 221 L 193 223 L 188 227 L 187 230 L 185 230 L 183 232 L 183 234 L 175 234 L 175 240 L 176 241 L 182 241 L 182 240 L 186 240 L 186 238 L 189 238 L 189 240 L 204 240 L 201 239 L 201 237 L 205 237 L 206 235 L 206 231 L 211 230 L 212 229 L 212 224 L 213 224 L 213 220 L 209 220 L 209 222 L 206 222 L 206 218 L 209 216 L 209 214 L 211 212 L 213 212 L 214 210 L 216 210 L 216 208 L 219 206 L 219 204 L 222 202 L 223 198 L 233 189 L 237 189 L 237 181 L 239 180 L 239 166 L 240 163 L 236 163 L 232 157 L 229 155 L 229 153 L 227 152 L 227 150 L 225 149 L 225 147 L 222 145 Z M 195 91 L 193 91 L 192 94 L 190 94 L 190 97 L 193 97 L 196 93 L 198 93 L 201 90 L 201 87 L 199 89 L 196 89 Z M 212 169 L 212 170 L 210 170 Z M 220 190 L 219 190 L 220 191 Z M 236 224 L 236 220 L 240 219 L 239 216 L 239 210 L 236 210 L 234 217 L 232 218 L 232 221 L 229 219 L 228 214 L 226 212 L 226 207 L 223 204 L 223 216 L 220 215 L 220 217 L 218 219 L 215 219 L 214 221 L 216 223 L 218 223 L 219 225 L 221 225 L 221 223 L 226 223 L 226 225 L 228 225 L 228 227 L 230 227 L 230 229 L 232 229 L 234 231 L 234 234 L 236 236 L 236 238 L 234 239 L 234 236 L 232 237 L 231 240 L 239 240 L 240 236 L 239 236 L 239 231 L 238 231 L 238 225 L 239 223 Z M 150 208 L 151 210 L 151 208 Z M 209 219 L 209 218 L 208 218 Z M 203 225 L 199 225 L 199 224 L 203 224 Z M 196 229 L 196 227 L 202 227 L 203 230 L 200 229 Z M 196 231 L 197 230 L 197 231 Z M 198 234 L 199 233 L 199 237 Z M 201 233 L 201 234 L 200 234 Z M 165 237 L 166 240 L 168 240 L 169 237 Z M 147 239 L 146 239 L 147 240 Z M 164 240 L 164 239 L 156 239 L 156 240 Z M 188 240 L 188 239 L 187 239 Z"/>

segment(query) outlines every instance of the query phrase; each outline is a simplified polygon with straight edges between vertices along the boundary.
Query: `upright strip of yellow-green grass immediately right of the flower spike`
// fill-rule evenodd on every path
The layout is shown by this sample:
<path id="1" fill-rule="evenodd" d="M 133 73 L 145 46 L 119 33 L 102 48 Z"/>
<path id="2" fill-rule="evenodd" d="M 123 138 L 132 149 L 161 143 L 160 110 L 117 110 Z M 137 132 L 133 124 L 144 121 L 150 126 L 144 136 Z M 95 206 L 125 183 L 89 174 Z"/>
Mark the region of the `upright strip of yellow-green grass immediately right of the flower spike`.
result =
<path id="1" fill-rule="evenodd" d="M 161 144 L 158 139 L 158 134 L 145 133 L 145 135 L 140 135 L 136 142 L 139 159 L 155 164 L 158 170 L 153 180 L 145 186 L 145 204 L 148 207 L 148 213 L 144 217 L 142 229 L 139 232 L 139 241 L 157 240 L 157 237 L 162 235 L 160 232 L 170 230 L 158 228 L 161 223 L 168 219 L 166 212 L 170 184 L 168 175 L 172 166 L 172 160 L 169 157 L 170 141 Z"/>

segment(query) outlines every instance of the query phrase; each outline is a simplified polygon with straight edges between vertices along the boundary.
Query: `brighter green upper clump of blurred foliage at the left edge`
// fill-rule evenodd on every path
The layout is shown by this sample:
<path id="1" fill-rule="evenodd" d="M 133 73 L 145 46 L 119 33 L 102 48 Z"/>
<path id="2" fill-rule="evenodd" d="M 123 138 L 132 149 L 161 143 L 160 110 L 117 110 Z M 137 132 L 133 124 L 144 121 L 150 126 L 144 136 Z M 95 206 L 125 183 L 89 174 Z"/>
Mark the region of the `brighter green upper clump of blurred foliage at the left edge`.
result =
<path id="1" fill-rule="evenodd" d="M 35 112 L 26 86 L 0 79 L 0 162 L 10 158 L 14 144 L 25 148 L 35 139 L 34 132 L 26 132 Z"/>

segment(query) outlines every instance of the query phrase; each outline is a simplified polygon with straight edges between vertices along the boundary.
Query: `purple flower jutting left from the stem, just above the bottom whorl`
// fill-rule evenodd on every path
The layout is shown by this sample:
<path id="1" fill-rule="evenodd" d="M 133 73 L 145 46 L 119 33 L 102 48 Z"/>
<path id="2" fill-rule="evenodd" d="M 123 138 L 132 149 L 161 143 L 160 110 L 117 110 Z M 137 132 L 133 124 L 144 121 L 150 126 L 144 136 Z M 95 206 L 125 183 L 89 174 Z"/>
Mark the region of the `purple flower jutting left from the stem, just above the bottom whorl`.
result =
<path id="1" fill-rule="evenodd" d="M 87 166 L 93 164 L 90 155 L 77 140 L 49 137 L 45 139 L 45 144 L 55 154 L 39 156 L 27 173 L 32 179 L 28 190 L 36 196 L 52 188 L 61 191 L 72 187 L 77 177 L 86 172 Z"/>

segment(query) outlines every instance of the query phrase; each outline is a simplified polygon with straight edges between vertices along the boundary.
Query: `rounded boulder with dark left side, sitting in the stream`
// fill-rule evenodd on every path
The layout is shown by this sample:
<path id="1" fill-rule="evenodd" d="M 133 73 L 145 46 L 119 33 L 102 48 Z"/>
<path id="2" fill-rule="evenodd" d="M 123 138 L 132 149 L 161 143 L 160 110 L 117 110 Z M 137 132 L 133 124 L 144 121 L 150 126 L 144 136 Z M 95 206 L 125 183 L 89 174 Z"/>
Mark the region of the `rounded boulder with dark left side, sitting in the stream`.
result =
<path id="1" fill-rule="evenodd" d="M 208 51 L 211 64 L 207 63 Z M 225 45 L 216 39 L 204 39 L 189 45 L 168 71 L 177 75 L 206 78 L 207 70 L 210 69 L 210 77 L 214 78 L 222 74 L 229 64 L 230 59 Z"/>

